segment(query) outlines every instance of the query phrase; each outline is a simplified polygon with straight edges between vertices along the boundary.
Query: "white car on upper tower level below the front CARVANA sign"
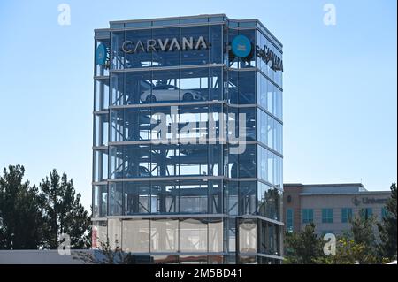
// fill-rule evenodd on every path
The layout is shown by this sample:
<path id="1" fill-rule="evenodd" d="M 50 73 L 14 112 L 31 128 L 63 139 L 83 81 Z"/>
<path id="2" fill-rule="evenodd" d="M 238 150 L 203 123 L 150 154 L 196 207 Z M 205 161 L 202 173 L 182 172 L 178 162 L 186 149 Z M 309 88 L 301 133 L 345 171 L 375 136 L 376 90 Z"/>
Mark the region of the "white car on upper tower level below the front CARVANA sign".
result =
<path id="1" fill-rule="evenodd" d="M 202 95 L 191 89 L 180 89 L 169 84 L 157 85 L 150 90 L 142 92 L 141 101 L 143 103 L 154 103 L 157 101 L 179 101 L 181 95 L 182 101 L 204 101 Z"/>

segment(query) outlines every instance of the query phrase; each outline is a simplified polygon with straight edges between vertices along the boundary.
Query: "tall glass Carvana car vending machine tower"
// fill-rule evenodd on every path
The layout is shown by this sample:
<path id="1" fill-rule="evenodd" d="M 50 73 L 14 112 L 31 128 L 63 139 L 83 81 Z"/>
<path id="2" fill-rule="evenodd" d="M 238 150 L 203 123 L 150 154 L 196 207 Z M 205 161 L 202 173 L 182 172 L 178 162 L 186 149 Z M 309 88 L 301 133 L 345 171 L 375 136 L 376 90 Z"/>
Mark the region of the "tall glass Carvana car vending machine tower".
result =
<path id="1" fill-rule="evenodd" d="M 93 245 L 280 263 L 280 42 L 257 20 L 205 15 L 111 22 L 95 51 Z"/>

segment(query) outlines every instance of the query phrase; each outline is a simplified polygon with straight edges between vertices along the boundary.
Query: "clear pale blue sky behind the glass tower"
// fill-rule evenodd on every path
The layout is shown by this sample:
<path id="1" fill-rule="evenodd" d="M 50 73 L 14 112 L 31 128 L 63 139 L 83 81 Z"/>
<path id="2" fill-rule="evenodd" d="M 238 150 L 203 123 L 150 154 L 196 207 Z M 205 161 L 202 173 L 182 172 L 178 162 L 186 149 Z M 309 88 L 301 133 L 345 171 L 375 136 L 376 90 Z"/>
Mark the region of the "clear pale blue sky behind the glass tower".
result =
<path id="1" fill-rule="evenodd" d="M 70 4 L 71 25 L 57 23 Z M 324 4 L 336 7 L 325 26 Z M 285 182 L 386 190 L 397 170 L 396 1 L 1 1 L 0 167 L 52 168 L 91 202 L 93 30 L 110 20 L 226 13 L 284 44 Z"/>

